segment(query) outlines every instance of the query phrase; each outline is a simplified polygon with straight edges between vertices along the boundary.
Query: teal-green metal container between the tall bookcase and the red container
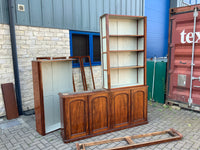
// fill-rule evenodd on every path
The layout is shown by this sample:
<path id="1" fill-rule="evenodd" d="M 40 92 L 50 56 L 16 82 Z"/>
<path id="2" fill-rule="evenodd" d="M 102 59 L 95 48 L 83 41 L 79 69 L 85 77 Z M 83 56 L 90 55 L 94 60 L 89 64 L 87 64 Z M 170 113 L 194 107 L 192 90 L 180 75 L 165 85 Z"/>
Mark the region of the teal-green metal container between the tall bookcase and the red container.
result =
<path id="1" fill-rule="evenodd" d="M 154 65 L 155 65 L 155 77 L 154 76 Z M 154 100 L 158 103 L 165 103 L 165 92 L 166 92 L 166 66 L 167 62 L 164 61 L 147 61 L 147 85 L 148 89 L 148 100 Z M 154 86 L 154 88 L 153 88 Z M 154 89 L 152 91 L 152 88 Z"/>

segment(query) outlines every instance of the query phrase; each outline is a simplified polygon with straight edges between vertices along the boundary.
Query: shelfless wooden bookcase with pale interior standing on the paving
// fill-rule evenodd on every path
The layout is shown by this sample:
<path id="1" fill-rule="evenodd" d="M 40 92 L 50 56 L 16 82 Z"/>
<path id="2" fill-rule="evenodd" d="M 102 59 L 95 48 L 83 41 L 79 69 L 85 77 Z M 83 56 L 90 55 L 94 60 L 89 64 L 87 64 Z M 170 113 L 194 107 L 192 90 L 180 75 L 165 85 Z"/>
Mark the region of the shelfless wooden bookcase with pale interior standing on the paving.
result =
<path id="1" fill-rule="evenodd" d="M 72 59 L 32 61 L 36 130 L 41 134 L 60 129 L 58 93 L 73 92 Z"/>

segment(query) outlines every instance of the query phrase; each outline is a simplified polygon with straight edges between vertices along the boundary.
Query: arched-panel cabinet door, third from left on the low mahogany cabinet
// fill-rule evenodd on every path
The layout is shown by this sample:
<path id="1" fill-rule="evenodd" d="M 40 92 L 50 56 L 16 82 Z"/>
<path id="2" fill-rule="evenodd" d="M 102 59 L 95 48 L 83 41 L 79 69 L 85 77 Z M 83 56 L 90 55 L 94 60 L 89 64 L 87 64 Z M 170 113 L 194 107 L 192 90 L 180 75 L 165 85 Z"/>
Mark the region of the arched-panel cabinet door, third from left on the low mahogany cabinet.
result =
<path id="1" fill-rule="evenodd" d="M 120 128 L 129 125 L 130 91 L 121 90 L 112 92 L 112 127 Z"/>

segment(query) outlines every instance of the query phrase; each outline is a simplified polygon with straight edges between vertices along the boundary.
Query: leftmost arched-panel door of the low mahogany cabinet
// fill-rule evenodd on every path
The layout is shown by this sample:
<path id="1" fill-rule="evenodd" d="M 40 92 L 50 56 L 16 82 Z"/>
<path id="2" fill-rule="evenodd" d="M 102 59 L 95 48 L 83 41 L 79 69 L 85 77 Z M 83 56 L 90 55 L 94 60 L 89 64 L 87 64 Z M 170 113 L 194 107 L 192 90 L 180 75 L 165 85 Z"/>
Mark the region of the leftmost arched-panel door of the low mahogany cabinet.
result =
<path id="1" fill-rule="evenodd" d="M 88 134 L 87 96 L 77 96 L 74 98 L 67 98 L 66 100 L 66 137 L 72 139 L 86 136 Z"/>

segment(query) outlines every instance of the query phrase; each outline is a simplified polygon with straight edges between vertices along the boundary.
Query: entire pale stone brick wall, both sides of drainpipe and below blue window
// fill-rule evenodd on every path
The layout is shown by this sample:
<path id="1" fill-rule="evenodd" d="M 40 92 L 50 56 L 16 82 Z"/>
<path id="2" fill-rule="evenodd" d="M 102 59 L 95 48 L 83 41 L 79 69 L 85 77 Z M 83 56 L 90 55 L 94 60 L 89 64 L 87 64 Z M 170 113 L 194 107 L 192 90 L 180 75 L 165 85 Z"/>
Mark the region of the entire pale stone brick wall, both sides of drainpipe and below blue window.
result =
<path id="1" fill-rule="evenodd" d="M 23 110 L 33 109 L 33 81 L 31 61 L 36 57 L 59 57 L 70 55 L 69 30 L 16 26 L 16 42 L 19 63 Z M 77 91 L 82 91 L 80 68 L 73 69 Z M 89 89 L 92 80 L 89 67 L 85 68 Z M 97 88 L 102 87 L 101 66 L 94 66 L 93 73 Z M 9 26 L 0 24 L 0 84 L 13 82 L 13 66 Z M 0 116 L 5 115 L 0 90 Z"/>

